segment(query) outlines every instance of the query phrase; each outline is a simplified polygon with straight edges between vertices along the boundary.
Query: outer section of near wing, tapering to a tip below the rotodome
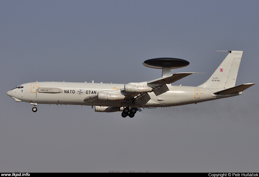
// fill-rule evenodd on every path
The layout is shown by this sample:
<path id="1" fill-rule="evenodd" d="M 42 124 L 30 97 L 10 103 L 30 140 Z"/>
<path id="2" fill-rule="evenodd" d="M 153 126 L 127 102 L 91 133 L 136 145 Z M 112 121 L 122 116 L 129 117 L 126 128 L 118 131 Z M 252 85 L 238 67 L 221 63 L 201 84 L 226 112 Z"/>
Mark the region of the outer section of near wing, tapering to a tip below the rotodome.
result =
<path id="1" fill-rule="evenodd" d="M 177 80 L 180 80 L 186 76 L 190 76 L 191 74 L 194 74 L 194 73 L 196 73 L 196 72 L 175 73 L 175 74 L 171 74 L 169 76 L 160 77 L 158 79 L 148 81 L 147 83 L 150 85 L 171 84 L 173 82 L 176 82 Z"/>

